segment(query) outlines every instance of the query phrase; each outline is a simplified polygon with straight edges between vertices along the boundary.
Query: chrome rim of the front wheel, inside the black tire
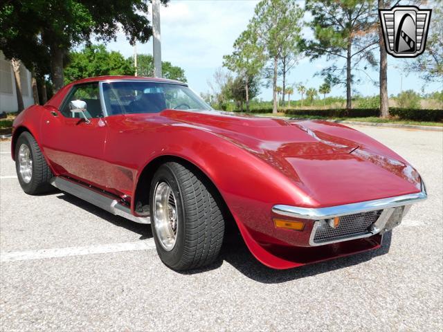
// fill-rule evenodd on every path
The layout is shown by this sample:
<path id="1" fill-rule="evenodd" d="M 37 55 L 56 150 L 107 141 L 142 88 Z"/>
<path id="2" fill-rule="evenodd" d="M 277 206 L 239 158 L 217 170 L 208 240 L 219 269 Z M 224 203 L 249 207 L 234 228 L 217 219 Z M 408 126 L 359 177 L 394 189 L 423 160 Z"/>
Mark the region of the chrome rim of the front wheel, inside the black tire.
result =
<path id="1" fill-rule="evenodd" d="M 161 246 L 170 251 L 177 241 L 179 216 L 177 200 L 168 183 L 158 183 L 154 191 L 154 225 Z"/>

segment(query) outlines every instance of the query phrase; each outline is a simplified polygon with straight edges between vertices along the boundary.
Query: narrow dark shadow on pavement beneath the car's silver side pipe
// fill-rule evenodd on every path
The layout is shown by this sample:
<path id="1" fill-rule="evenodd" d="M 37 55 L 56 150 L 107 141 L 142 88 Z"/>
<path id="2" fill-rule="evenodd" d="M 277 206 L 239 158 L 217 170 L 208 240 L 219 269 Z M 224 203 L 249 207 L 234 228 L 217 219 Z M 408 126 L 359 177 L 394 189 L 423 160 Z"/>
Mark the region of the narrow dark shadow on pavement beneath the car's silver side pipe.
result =
<path id="1" fill-rule="evenodd" d="M 123 218 L 123 216 L 116 216 L 71 194 L 67 194 L 65 192 L 60 192 L 60 194 L 61 195 L 56 196 L 57 199 L 62 199 L 63 201 L 78 206 L 79 208 L 82 208 L 83 210 L 86 210 L 87 212 L 90 212 L 101 219 L 109 221 L 109 223 L 112 223 L 113 225 L 123 227 L 131 232 L 137 233 L 140 235 L 140 240 L 152 238 L 150 225 L 146 225 L 145 223 L 135 223 L 134 221 Z"/>

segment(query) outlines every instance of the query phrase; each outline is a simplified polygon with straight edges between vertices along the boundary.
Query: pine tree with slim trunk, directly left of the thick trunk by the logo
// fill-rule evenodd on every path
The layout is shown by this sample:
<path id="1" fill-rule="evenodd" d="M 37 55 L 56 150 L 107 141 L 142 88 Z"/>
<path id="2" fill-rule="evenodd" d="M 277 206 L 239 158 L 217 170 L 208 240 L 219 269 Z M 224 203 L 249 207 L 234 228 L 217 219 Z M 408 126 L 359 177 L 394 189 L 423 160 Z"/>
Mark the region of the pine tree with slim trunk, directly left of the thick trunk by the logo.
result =
<path id="1" fill-rule="evenodd" d="M 313 19 L 309 26 L 314 30 L 315 40 L 304 40 L 302 45 L 311 59 L 326 56 L 329 59 L 344 59 L 345 66 L 332 64 L 321 74 L 329 82 L 346 86 L 346 108 L 352 108 L 352 81 L 355 70 L 362 59 L 375 65 L 372 50 L 377 40 L 371 38 L 373 1 L 368 0 L 307 0 L 306 9 Z M 345 73 L 346 80 L 341 80 Z"/>

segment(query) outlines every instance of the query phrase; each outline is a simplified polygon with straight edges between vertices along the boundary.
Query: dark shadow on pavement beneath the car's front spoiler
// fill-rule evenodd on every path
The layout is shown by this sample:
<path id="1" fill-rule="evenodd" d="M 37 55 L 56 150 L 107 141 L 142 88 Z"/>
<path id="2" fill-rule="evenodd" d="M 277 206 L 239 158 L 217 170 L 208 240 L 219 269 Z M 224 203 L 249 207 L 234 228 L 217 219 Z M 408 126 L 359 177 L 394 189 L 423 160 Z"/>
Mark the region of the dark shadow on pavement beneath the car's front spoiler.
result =
<path id="1" fill-rule="evenodd" d="M 383 243 L 379 249 L 361 252 L 359 254 L 347 257 L 331 259 L 329 261 L 300 266 L 298 268 L 274 270 L 264 266 L 260 263 L 260 261 L 257 261 L 251 252 L 249 252 L 242 237 L 238 234 L 237 237 L 227 239 L 224 247 L 221 249 L 220 258 L 239 270 L 239 272 L 241 272 L 243 275 L 255 280 L 256 282 L 261 282 L 264 284 L 279 284 L 281 282 L 289 282 L 291 280 L 312 277 L 321 273 L 328 273 L 333 270 L 347 268 L 356 264 L 361 264 L 365 261 L 369 261 L 374 257 L 385 255 L 389 252 L 391 240 L 392 232 L 387 232 L 383 236 Z"/>

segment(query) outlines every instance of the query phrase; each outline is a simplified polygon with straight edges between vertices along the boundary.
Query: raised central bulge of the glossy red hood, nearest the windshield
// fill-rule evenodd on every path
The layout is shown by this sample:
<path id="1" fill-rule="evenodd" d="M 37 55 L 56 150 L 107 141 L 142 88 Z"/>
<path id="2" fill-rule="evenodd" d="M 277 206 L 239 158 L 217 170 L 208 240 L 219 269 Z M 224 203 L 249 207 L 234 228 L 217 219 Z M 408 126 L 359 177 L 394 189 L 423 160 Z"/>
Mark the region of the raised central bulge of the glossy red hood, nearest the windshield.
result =
<path id="1" fill-rule="evenodd" d="M 284 119 L 236 115 L 221 111 L 163 111 L 163 116 L 195 124 L 255 154 L 283 157 L 348 154 L 359 145 Z"/>

